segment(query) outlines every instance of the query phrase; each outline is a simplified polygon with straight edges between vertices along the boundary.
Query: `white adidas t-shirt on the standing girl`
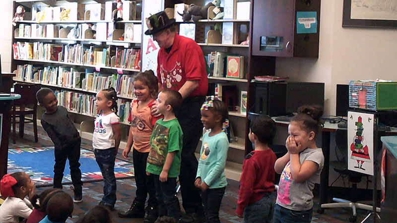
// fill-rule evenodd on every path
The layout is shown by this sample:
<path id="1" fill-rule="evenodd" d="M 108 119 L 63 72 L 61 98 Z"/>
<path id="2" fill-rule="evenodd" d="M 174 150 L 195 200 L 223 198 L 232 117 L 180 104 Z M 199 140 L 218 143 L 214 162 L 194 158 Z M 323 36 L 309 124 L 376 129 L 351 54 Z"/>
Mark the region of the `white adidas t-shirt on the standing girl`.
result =
<path id="1" fill-rule="evenodd" d="M 112 124 L 120 123 L 120 118 L 114 113 L 107 115 L 99 114 L 95 119 L 92 147 L 94 149 L 106 150 L 115 147 L 115 137 Z"/>

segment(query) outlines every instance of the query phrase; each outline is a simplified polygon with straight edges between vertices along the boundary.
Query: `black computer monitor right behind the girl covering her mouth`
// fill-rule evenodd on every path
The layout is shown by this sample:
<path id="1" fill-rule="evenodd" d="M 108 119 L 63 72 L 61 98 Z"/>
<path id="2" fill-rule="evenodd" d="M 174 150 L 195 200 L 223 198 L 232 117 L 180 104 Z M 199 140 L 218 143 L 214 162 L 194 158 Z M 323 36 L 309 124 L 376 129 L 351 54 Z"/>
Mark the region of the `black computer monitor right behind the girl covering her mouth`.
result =
<path id="1" fill-rule="evenodd" d="M 304 105 L 324 108 L 324 87 L 324 83 L 287 82 L 285 111 L 291 114 Z"/>

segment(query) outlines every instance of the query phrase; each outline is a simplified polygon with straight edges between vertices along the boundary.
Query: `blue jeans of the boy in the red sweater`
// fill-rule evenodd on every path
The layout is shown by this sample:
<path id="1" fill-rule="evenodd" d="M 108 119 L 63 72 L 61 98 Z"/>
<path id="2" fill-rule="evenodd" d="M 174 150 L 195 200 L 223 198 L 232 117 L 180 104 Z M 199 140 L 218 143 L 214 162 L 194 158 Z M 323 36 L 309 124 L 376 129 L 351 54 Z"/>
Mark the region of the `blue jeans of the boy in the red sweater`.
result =
<path id="1" fill-rule="evenodd" d="M 275 199 L 270 192 L 255 203 L 248 204 L 244 209 L 245 223 L 269 223 L 273 219 Z"/>

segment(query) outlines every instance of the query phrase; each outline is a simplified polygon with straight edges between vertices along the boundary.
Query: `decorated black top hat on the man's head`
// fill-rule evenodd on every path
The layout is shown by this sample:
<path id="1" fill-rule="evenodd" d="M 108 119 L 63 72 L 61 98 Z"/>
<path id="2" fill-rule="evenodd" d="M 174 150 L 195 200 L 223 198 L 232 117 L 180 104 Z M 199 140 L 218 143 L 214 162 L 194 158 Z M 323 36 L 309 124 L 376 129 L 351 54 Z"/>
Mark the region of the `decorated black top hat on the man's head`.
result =
<path id="1" fill-rule="evenodd" d="M 175 24 L 175 19 L 169 19 L 164 11 L 157 12 L 146 18 L 146 25 L 148 30 L 146 30 L 145 35 L 151 35 L 158 33 L 161 30 L 167 29 Z"/>

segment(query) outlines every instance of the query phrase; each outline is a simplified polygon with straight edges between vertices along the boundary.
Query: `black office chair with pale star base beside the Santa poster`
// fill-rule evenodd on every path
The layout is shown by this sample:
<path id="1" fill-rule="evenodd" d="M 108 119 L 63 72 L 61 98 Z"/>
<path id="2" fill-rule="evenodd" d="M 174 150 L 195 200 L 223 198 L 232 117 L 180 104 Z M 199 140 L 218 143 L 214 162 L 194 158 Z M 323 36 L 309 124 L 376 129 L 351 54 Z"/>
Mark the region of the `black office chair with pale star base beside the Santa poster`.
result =
<path id="1" fill-rule="evenodd" d="M 346 129 L 337 129 L 335 132 L 335 141 L 336 141 L 336 148 L 342 154 L 342 159 L 340 161 L 331 161 L 330 167 L 332 167 L 336 172 L 341 175 L 346 175 L 348 177 L 349 182 L 352 183 L 351 191 L 349 194 L 352 194 L 354 199 L 352 201 L 348 201 L 341 198 L 332 198 L 332 200 L 336 203 L 329 203 L 329 204 L 322 204 L 321 208 L 317 210 L 318 213 L 323 213 L 323 208 L 351 208 L 353 211 L 353 215 L 349 217 L 349 222 L 356 222 L 357 220 L 357 213 L 356 209 L 364 209 L 368 211 L 372 211 L 372 206 L 365 205 L 361 203 L 357 203 L 358 196 L 354 196 L 355 191 L 357 191 L 357 183 L 361 182 L 361 178 L 363 176 L 368 176 L 367 174 L 348 170 L 347 169 L 347 130 Z M 380 208 L 376 208 L 377 212 L 381 211 Z"/>

